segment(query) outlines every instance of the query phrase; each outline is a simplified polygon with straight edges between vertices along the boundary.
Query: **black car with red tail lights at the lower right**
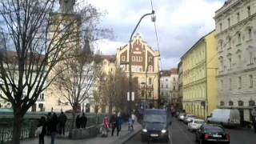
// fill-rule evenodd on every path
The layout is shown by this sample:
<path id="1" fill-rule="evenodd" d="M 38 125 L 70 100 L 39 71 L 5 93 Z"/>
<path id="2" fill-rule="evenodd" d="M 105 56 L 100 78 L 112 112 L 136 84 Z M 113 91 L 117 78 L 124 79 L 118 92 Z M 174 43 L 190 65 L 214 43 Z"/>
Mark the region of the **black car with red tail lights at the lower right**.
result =
<path id="1" fill-rule="evenodd" d="M 195 139 L 200 144 L 211 143 L 230 143 L 230 134 L 220 125 L 204 124 L 195 133 Z"/>

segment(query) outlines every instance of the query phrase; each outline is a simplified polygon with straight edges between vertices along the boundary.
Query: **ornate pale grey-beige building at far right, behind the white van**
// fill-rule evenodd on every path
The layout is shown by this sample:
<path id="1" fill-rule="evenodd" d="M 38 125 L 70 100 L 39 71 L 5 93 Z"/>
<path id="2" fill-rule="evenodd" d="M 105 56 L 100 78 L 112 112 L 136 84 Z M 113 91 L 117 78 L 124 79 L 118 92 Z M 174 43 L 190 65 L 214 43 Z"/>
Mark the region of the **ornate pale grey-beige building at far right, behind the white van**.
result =
<path id="1" fill-rule="evenodd" d="M 252 122 L 256 102 L 256 1 L 229 0 L 215 12 L 218 107 Z"/>

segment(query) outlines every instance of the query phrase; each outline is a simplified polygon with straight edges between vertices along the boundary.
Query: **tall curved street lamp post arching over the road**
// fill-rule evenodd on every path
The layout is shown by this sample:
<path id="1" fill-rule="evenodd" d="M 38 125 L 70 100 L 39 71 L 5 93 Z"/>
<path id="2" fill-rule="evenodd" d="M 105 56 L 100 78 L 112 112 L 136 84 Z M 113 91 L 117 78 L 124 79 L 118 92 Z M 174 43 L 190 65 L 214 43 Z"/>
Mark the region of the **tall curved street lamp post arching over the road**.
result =
<path id="1" fill-rule="evenodd" d="M 140 24 L 140 22 L 142 22 L 142 19 L 145 18 L 147 15 L 152 15 L 152 14 L 154 14 L 154 10 L 152 10 L 151 13 L 142 15 L 142 18 L 139 19 L 137 25 L 134 28 L 134 31 L 130 34 L 130 41 L 129 41 L 129 98 L 130 98 L 130 101 L 128 102 L 129 112 L 131 112 L 131 97 L 132 97 L 132 94 L 131 94 L 132 93 L 132 75 L 131 75 L 131 48 L 132 47 L 131 47 L 131 40 L 134 36 L 135 31 L 138 28 L 138 25 Z M 155 20 L 155 18 L 152 18 L 152 20 Z"/>

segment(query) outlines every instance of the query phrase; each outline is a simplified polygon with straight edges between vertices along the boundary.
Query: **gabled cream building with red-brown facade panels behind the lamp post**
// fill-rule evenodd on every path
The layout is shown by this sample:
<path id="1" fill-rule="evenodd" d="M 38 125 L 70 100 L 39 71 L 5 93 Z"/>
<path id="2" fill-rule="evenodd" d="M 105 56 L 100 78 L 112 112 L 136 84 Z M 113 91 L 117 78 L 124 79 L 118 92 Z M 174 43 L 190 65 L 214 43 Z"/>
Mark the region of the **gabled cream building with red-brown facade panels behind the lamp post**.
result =
<path id="1" fill-rule="evenodd" d="M 138 82 L 139 103 L 146 102 L 151 107 L 158 105 L 158 78 L 159 57 L 158 51 L 142 40 L 141 35 L 136 34 L 132 39 L 131 70 L 132 77 Z M 129 44 L 118 49 L 116 54 L 117 65 L 129 76 Z"/>

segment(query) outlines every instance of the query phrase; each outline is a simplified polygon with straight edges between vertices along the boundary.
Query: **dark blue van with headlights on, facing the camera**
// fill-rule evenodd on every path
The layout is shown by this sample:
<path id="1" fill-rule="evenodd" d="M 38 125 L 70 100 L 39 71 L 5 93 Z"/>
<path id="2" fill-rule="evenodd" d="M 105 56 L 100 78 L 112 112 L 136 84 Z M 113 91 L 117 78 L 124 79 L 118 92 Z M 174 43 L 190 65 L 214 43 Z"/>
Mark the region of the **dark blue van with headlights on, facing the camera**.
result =
<path id="1" fill-rule="evenodd" d="M 146 109 L 143 113 L 141 141 L 162 139 L 169 142 L 170 115 L 163 109 Z"/>

